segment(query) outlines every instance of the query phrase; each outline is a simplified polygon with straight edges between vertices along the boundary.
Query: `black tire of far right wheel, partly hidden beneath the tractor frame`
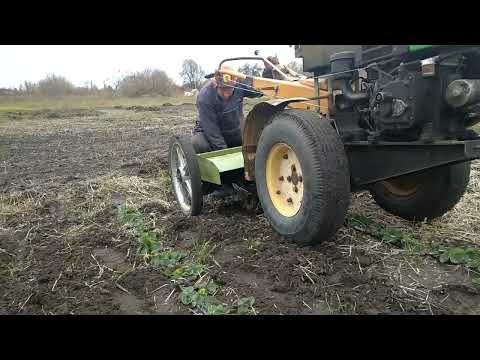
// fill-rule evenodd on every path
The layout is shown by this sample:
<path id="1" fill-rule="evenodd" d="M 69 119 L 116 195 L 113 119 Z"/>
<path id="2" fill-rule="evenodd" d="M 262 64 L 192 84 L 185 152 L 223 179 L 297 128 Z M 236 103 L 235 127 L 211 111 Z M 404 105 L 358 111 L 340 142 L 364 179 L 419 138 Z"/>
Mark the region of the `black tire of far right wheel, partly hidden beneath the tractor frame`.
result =
<path id="1" fill-rule="evenodd" d="M 406 220 L 433 219 L 452 209 L 462 198 L 470 179 L 470 166 L 470 162 L 464 162 L 396 178 L 414 182 L 416 189 L 412 194 L 394 193 L 384 182 L 373 184 L 370 193 L 381 208 Z"/>

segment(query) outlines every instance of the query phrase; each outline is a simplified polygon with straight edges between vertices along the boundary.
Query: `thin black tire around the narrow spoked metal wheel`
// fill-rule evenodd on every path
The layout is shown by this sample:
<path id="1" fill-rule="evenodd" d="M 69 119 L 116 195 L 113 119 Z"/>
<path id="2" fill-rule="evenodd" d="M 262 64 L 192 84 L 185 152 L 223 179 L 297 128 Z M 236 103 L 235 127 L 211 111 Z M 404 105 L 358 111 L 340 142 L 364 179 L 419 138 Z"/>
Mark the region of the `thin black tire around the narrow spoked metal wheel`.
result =
<path id="1" fill-rule="evenodd" d="M 180 148 L 183 150 L 185 154 L 185 160 L 187 162 L 188 170 L 190 172 L 191 183 L 192 183 L 192 199 L 190 210 L 186 212 L 182 208 L 182 212 L 187 216 L 197 216 L 202 212 L 203 208 L 203 192 L 202 192 L 202 180 L 200 174 L 200 167 L 198 166 L 197 158 L 195 149 L 190 141 L 190 139 L 184 137 L 172 137 L 170 139 L 170 145 L 168 150 L 168 169 L 170 173 L 170 178 L 172 179 L 172 186 L 173 186 L 173 176 L 172 174 L 172 151 L 174 144 L 179 144 Z M 178 195 L 173 189 L 173 193 L 175 194 L 175 198 L 177 202 L 179 202 Z"/>

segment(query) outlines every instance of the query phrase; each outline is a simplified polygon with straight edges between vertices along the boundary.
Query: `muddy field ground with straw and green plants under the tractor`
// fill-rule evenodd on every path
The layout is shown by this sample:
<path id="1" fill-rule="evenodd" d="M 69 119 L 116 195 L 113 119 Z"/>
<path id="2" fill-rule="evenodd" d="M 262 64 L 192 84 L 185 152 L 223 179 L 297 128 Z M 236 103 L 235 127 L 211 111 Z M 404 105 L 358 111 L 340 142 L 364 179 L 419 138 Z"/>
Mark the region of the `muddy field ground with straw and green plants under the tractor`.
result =
<path id="1" fill-rule="evenodd" d="M 0 104 L 1 314 L 480 314 L 479 162 L 440 219 L 356 193 L 335 239 L 298 247 L 243 201 L 182 216 L 166 154 L 196 111 L 163 100 Z"/>

